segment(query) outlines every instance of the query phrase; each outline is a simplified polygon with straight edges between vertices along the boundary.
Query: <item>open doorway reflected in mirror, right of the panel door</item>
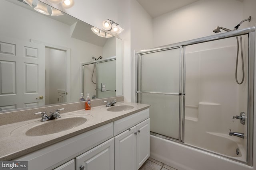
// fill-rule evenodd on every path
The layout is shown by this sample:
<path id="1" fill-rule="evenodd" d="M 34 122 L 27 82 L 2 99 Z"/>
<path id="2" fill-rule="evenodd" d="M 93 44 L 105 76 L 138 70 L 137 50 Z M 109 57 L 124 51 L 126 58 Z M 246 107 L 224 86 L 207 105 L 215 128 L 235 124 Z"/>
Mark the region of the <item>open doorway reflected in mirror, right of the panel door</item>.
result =
<path id="1" fill-rule="evenodd" d="M 45 48 L 45 104 L 66 102 L 65 51 Z"/>

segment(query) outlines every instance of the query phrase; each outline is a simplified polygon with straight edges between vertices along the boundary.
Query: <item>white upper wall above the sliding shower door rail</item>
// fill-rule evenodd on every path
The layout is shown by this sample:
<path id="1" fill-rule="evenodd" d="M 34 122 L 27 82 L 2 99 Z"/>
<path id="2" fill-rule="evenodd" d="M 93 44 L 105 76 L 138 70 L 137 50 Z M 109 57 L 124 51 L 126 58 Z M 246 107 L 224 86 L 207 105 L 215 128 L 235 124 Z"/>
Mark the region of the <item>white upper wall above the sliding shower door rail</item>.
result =
<path id="1" fill-rule="evenodd" d="M 200 0 L 153 19 L 154 47 L 213 35 L 217 26 L 233 29 L 242 14 L 240 1 Z"/>

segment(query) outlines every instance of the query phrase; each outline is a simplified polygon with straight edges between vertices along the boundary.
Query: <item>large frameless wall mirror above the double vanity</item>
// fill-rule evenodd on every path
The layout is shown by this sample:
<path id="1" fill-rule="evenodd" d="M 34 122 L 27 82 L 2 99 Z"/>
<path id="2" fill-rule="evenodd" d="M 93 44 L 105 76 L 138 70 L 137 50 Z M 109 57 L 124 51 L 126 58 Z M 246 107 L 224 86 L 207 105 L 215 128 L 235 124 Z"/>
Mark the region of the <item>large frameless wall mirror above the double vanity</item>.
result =
<path id="1" fill-rule="evenodd" d="M 122 40 L 48 5 L 42 14 L 38 2 L 0 0 L 0 112 L 122 95 Z M 113 78 L 114 92 L 98 94 Z"/>

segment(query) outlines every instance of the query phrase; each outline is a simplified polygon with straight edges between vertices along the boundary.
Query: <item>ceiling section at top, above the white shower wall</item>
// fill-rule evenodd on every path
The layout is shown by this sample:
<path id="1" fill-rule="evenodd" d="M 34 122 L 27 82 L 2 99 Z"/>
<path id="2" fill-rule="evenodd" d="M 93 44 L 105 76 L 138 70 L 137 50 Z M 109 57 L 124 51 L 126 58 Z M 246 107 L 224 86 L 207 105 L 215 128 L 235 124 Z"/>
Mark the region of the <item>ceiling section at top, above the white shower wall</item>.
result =
<path id="1" fill-rule="evenodd" d="M 137 0 L 138 3 L 155 18 L 198 0 Z"/>

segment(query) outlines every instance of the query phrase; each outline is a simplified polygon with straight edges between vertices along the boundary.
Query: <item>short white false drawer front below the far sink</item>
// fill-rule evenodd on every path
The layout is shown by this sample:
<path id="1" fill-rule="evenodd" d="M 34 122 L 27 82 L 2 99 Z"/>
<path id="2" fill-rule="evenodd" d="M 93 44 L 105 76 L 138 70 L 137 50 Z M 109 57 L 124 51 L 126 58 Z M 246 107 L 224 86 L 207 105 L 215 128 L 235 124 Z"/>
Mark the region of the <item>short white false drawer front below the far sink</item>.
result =
<path id="1" fill-rule="evenodd" d="M 149 118 L 149 109 L 139 111 L 117 121 L 114 121 L 114 136 L 126 131 L 134 125 Z"/>

